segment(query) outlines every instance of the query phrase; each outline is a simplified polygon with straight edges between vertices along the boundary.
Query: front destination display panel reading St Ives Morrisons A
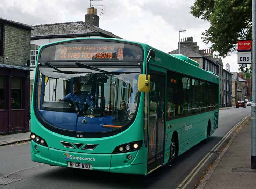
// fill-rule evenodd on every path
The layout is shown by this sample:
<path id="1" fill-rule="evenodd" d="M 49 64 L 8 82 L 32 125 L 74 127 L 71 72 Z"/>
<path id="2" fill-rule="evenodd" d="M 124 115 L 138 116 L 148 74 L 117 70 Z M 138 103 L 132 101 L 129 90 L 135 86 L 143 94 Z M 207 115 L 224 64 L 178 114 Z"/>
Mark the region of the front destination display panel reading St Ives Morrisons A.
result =
<path id="1" fill-rule="evenodd" d="M 40 61 L 143 61 L 140 46 L 105 41 L 77 41 L 45 47 Z"/>

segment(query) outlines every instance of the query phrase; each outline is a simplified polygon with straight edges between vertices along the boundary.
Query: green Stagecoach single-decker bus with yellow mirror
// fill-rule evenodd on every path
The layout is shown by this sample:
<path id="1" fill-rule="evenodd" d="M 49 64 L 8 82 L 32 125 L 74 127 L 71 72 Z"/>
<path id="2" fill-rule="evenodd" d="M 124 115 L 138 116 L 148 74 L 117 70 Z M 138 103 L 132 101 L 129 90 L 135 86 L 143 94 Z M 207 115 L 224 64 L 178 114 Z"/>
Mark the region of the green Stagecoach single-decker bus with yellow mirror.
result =
<path id="1" fill-rule="evenodd" d="M 186 56 L 111 38 L 40 47 L 32 161 L 148 175 L 218 128 L 219 78 Z"/>

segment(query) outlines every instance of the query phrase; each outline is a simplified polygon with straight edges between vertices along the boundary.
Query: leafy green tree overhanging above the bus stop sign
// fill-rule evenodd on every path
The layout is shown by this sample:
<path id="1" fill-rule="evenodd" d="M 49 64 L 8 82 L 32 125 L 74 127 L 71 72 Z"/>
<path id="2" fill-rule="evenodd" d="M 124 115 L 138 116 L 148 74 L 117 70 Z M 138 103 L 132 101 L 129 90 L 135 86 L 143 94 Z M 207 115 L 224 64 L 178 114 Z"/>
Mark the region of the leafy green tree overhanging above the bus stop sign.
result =
<path id="1" fill-rule="evenodd" d="M 190 8 L 193 16 L 210 22 L 202 40 L 222 57 L 237 50 L 237 40 L 252 37 L 252 0 L 196 0 Z"/>

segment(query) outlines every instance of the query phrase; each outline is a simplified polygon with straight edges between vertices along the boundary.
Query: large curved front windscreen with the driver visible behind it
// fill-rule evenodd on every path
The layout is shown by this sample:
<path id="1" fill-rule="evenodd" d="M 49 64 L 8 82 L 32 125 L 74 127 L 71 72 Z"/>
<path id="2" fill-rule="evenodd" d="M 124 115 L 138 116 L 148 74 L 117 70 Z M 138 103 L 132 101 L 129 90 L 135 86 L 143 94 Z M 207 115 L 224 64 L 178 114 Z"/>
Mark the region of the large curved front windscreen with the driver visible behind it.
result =
<path id="1" fill-rule="evenodd" d="M 138 74 L 87 72 L 66 77 L 59 73 L 47 80 L 42 74 L 45 85 L 41 87 L 39 112 L 50 124 L 68 130 L 101 132 L 120 128 L 135 115 Z"/>

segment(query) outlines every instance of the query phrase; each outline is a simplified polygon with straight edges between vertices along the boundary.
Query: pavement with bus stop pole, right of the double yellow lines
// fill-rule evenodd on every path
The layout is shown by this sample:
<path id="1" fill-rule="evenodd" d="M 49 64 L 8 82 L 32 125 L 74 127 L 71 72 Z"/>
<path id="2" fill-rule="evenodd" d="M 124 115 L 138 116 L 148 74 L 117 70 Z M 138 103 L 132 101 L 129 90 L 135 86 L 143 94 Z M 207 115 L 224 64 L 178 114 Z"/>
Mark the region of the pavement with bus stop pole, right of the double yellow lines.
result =
<path id="1" fill-rule="evenodd" d="M 210 166 L 197 189 L 256 188 L 256 169 L 251 169 L 251 119 L 236 129 Z"/>

